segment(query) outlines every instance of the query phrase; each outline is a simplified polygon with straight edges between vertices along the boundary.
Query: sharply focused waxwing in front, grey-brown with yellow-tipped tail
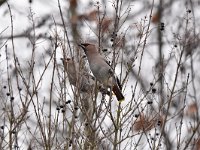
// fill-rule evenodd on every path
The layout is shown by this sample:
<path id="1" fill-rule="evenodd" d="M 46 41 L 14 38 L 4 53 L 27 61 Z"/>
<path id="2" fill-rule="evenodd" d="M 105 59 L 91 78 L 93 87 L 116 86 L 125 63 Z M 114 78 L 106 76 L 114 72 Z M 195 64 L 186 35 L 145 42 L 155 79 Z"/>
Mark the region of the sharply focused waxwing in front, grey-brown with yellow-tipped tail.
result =
<path id="1" fill-rule="evenodd" d="M 84 50 L 90 69 L 94 77 L 105 87 L 112 89 L 119 102 L 124 100 L 122 86 L 119 79 L 114 75 L 114 71 L 106 59 L 101 56 L 95 45 L 90 43 L 81 43 L 79 46 Z"/>

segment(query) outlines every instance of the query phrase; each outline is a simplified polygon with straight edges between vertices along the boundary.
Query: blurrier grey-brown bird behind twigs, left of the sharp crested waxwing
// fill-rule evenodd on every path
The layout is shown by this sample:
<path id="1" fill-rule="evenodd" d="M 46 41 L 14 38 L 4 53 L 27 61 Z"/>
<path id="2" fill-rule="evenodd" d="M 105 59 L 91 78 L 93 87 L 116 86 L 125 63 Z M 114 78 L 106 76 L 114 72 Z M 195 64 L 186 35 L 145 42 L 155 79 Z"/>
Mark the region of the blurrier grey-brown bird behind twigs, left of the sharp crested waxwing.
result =
<path id="1" fill-rule="evenodd" d="M 70 84 L 79 87 L 81 92 L 92 91 L 95 78 L 85 69 L 80 69 L 78 62 L 75 62 L 72 58 L 61 58 L 61 60 L 67 72 Z"/>

